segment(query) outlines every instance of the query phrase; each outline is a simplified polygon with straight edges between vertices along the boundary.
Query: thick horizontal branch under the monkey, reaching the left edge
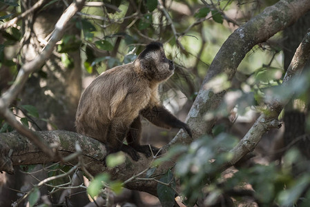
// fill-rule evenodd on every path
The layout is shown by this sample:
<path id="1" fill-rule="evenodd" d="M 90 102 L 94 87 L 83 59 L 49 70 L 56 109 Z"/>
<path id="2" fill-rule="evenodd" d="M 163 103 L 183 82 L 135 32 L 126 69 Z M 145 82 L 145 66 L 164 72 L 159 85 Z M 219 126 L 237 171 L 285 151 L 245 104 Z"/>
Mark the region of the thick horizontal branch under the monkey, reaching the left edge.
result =
<path id="1" fill-rule="evenodd" d="M 146 159 L 143 154 L 140 154 L 139 161 L 133 161 L 129 156 L 126 156 L 126 161 L 115 168 L 106 168 L 104 166 L 104 157 L 106 157 L 106 147 L 96 139 L 79 135 L 75 132 L 66 130 L 40 131 L 35 134 L 48 142 L 48 144 L 57 145 L 61 157 L 66 157 L 75 152 L 75 142 L 78 141 L 81 150 L 83 151 L 83 162 L 86 165 L 86 170 L 92 175 L 97 175 L 101 172 L 109 172 L 113 179 L 126 181 L 140 172 L 145 171 L 151 165 L 153 158 Z M 48 157 L 35 144 L 28 139 L 19 135 L 17 132 L 1 133 L 0 134 L 0 171 L 14 172 L 13 166 L 28 165 L 28 164 L 43 164 L 51 161 L 60 161 L 55 158 Z M 78 159 L 73 159 L 70 164 L 77 164 Z M 162 165 L 154 175 L 161 175 L 166 172 L 168 166 L 172 166 L 170 162 Z M 145 177 L 142 173 L 139 177 Z M 155 187 L 154 187 L 155 186 Z M 156 195 L 155 181 L 136 181 L 126 183 L 126 188 L 132 190 L 142 190 L 153 195 Z"/>

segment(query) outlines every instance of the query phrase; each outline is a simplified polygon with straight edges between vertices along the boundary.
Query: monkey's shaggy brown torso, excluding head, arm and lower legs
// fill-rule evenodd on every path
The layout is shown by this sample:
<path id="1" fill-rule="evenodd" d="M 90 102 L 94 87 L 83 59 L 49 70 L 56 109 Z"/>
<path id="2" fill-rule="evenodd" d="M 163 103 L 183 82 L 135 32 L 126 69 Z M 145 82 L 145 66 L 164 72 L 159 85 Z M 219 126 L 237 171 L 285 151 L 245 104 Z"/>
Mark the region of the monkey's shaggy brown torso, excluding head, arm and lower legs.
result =
<path id="1" fill-rule="evenodd" d="M 77 132 L 106 143 L 110 124 L 129 126 L 150 97 L 149 82 L 133 70 L 133 63 L 107 70 L 81 95 Z"/>

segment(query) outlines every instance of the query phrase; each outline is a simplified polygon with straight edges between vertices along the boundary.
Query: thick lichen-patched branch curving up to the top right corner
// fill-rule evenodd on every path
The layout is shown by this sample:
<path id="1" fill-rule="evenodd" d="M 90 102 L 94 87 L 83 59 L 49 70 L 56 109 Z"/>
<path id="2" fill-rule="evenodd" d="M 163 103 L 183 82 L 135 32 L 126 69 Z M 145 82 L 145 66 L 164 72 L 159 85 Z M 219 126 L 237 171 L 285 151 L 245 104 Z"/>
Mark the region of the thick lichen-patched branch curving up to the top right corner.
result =
<path id="1" fill-rule="evenodd" d="M 197 98 L 188 113 L 187 122 L 193 130 L 194 139 L 211 132 L 215 120 L 207 122 L 204 115 L 206 112 L 215 110 L 222 103 L 225 94 L 225 91 L 215 93 L 213 88 L 206 88 L 206 83 L 220 74 L 226 75 L 228 81 L 231 81 L 240 62 L 253 46 L 267 41 L 309 10 L 308 0 L 282 0 L 266 8 L 229 36 L 213 59 Z M 189 144 L 191 141 L 193 140 L 181 130 L 170 145 Z"/>

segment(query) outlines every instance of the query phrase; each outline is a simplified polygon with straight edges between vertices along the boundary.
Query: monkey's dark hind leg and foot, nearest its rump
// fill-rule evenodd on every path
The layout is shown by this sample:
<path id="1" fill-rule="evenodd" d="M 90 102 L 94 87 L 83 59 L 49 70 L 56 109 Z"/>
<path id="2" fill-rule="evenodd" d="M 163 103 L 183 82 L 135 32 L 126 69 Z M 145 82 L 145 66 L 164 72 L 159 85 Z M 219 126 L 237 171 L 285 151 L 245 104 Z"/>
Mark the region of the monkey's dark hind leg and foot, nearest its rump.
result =
<path id="1" fill-rule="evenodd" d="M 108 141 L 106 144 L 108 154 L 122 150 L 123 152 L 126 152 L 133 160 L 139 160 L 140 156 L 137 151 L 131 146 L 123 143 L 128 131 L 128 127 L 115 123 L 117 123 L 117 121 L 112 121 L 108 130 Z"/>

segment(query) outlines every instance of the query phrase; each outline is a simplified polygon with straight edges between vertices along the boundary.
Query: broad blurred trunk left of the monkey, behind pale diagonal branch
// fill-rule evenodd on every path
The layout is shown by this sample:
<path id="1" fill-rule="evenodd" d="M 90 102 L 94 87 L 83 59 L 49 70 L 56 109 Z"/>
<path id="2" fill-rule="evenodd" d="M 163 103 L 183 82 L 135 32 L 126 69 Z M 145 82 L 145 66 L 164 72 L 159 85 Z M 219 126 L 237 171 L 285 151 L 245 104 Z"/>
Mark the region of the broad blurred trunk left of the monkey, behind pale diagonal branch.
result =
<path id="1" fill-rule="evenodd" d="M 31 0 L 24 1 L 22 5 L 31 5 L 30 2 Z M 25 32 L 31 33 L 22 49 L 24 61 L 30 61 L 37 55 L 39 41 L 48 37 L 65 9 L 66 6 L 59 1 L 28 16 Z M 70 23 L 65 34 L 79 38 L 75 22 Z M 61 55 L 55 50 L 40 72 L 30 77 L 19 96 L 21 104 L 30 104 L 37 108 L 40 119 L 35 121 L 41 130 L 52 130 L 50 124 L 41 120 L 43 118 L 55 124 L 58 129 L 75 131 L 75 112 L 81 95 L 81 57 L 79 50 L 70 52 L 68 55 L 73 60 L 74 67 L 66 68 L 61 62 Z M 44 77 L 45 75 L 47 77 Z"/>

